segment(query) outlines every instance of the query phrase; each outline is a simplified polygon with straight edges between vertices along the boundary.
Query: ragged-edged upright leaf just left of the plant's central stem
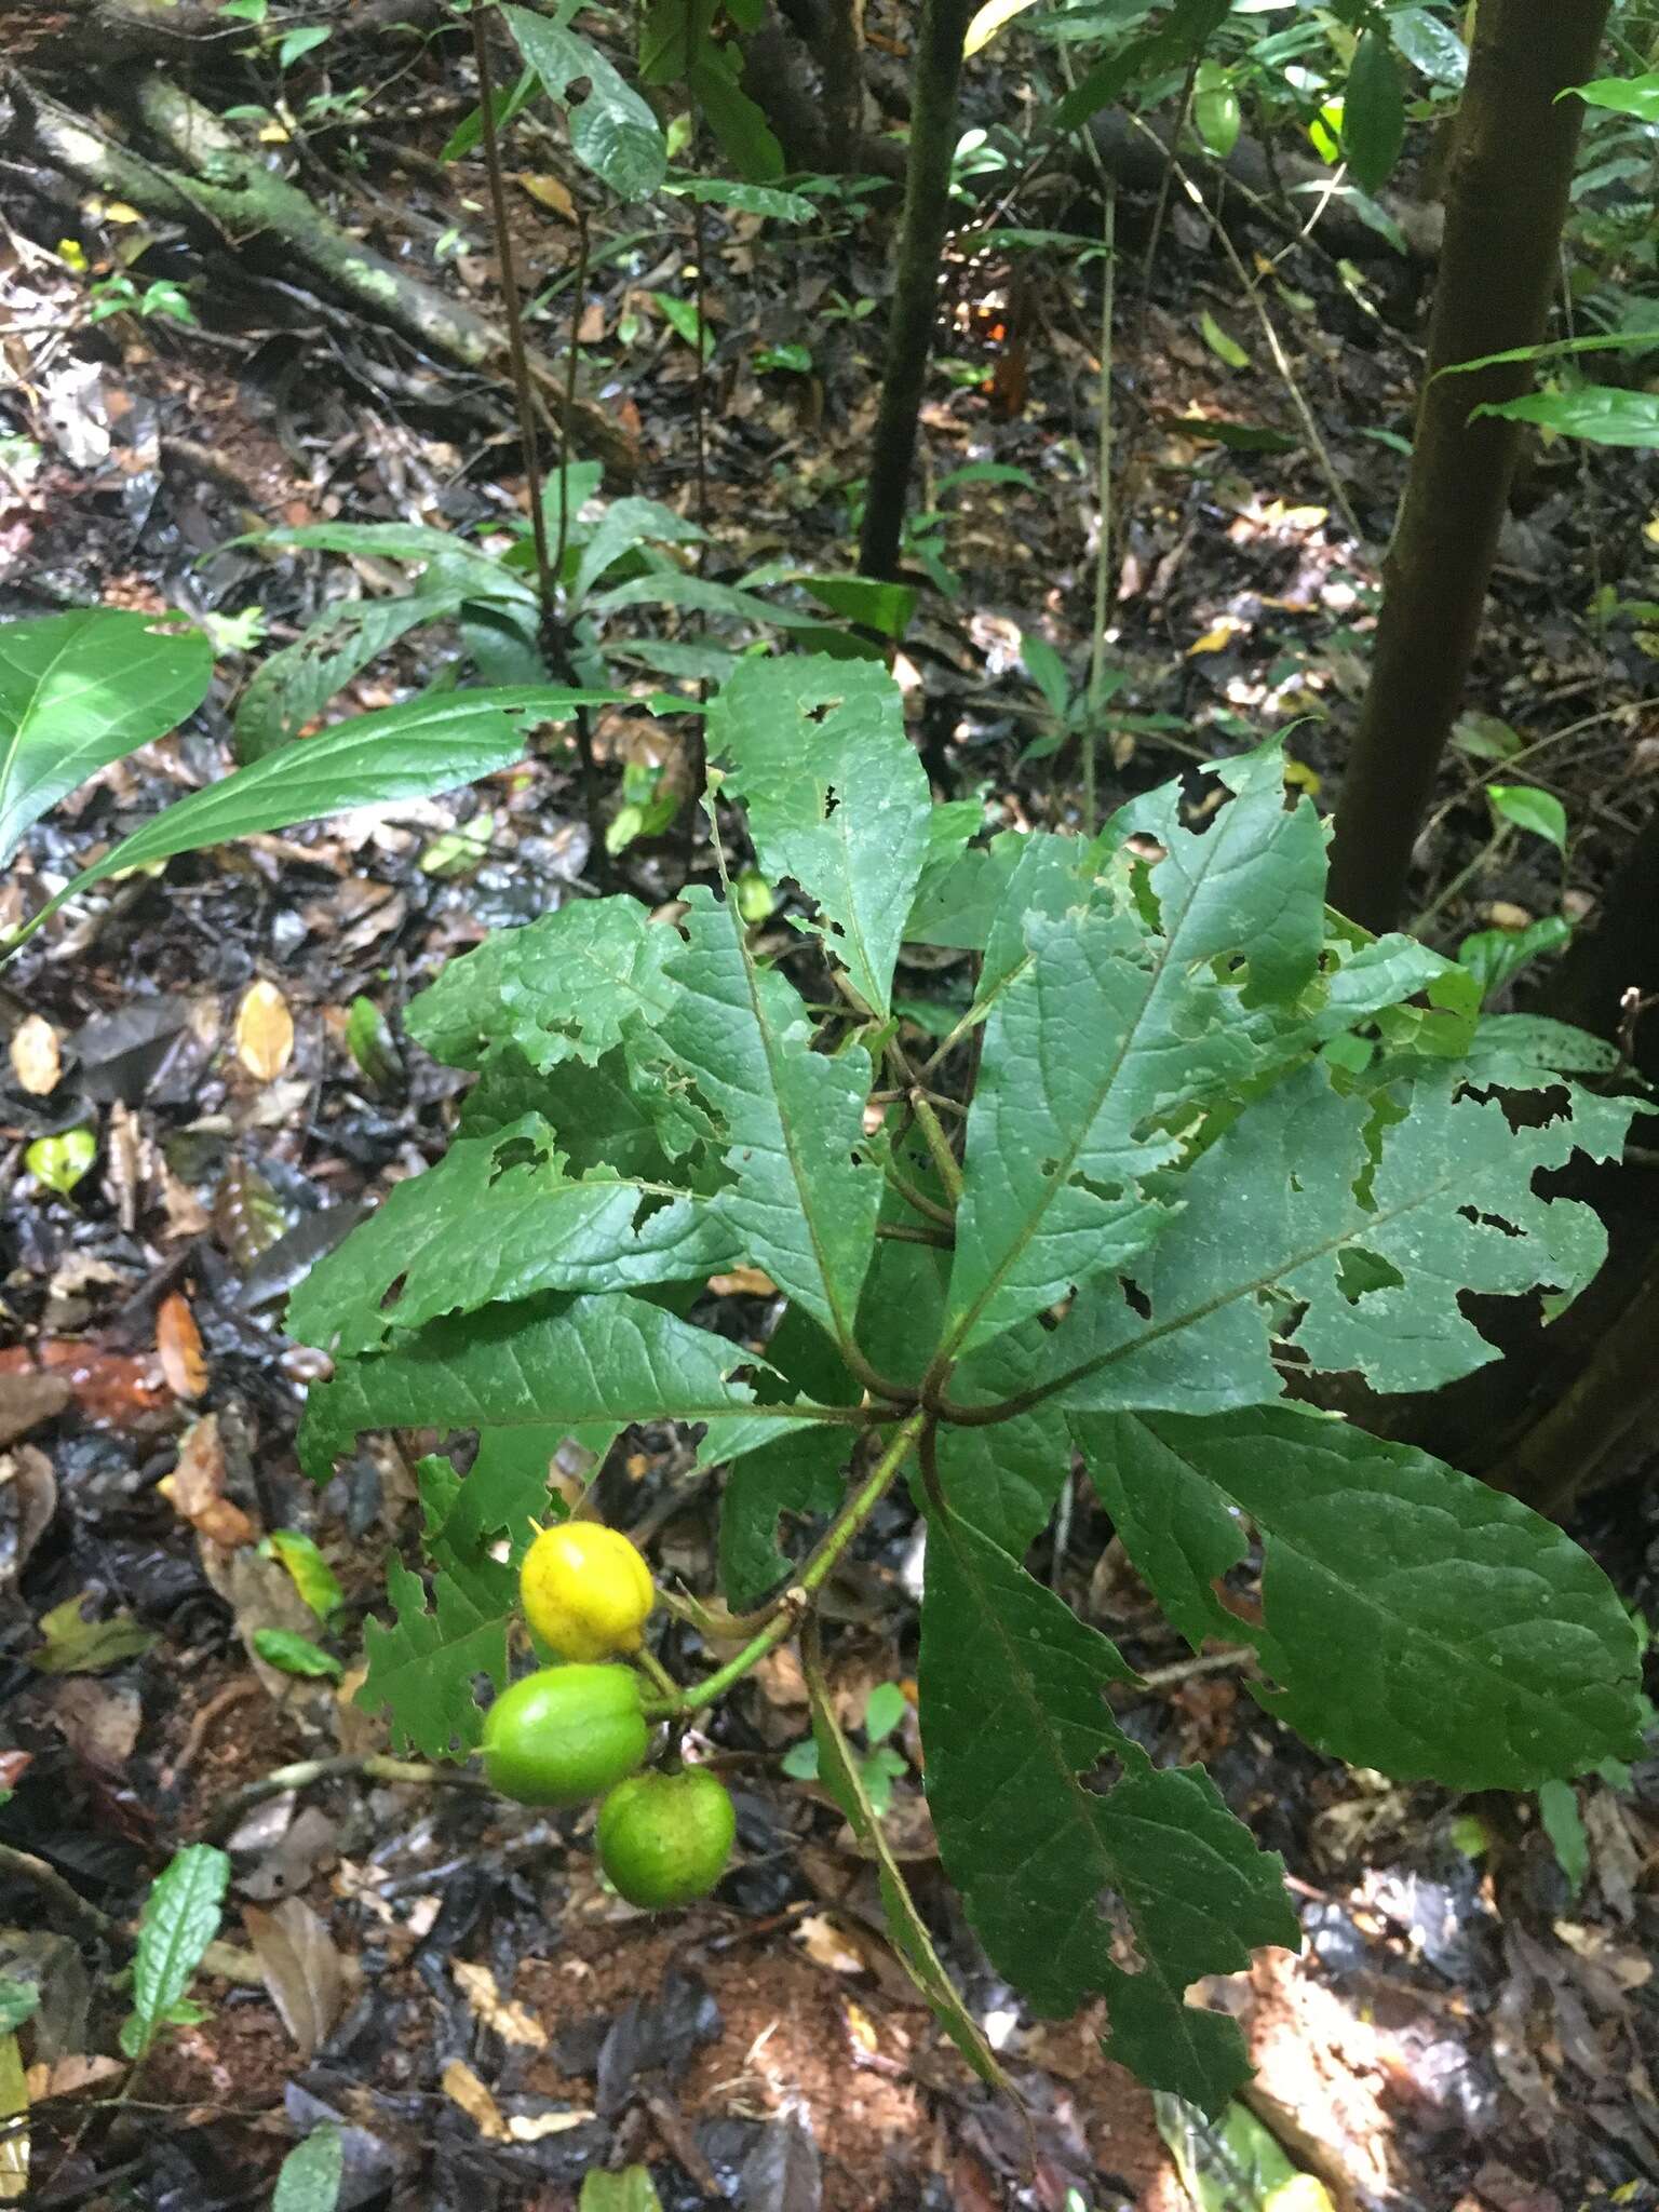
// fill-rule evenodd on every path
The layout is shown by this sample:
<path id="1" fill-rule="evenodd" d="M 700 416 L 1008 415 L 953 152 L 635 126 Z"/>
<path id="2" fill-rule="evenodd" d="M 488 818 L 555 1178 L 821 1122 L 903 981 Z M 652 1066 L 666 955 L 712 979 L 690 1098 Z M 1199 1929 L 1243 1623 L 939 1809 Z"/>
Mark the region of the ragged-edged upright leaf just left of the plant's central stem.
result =
<path id="1" fill-rule="evenodd" d="M 714 1206 L 748 1259 L 845 1345 L 883 1188 L 865 1141 L 869 1055 L 812 1051 L 801 998 L 754 960 L 730 900 L 688 887 L 679 927 L 684 945 L 664 964 L 677 991 L 659 1035 L 721 1128 L 734 1181 Z"/>

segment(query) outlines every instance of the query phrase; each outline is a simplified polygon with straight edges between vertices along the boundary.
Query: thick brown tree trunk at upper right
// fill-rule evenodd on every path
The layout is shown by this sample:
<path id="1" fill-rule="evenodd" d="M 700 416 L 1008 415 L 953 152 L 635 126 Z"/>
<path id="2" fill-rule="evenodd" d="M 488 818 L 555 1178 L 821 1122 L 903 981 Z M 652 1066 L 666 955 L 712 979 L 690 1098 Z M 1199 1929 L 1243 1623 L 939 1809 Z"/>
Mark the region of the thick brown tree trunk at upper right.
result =
<path id="1" fill-rule="evenodd" d="M 1517 398 L 1533 374 L 1526 363 L 1438 372 L 1544 334 L 1584 115 L 1582 100 L 1557 95 L 1595 75 L 1606 15 L 1608 0 L 1480 0 L 1411 471 L 1336 810 L 1332 905 L 1367 929 L 1400 911 L 1515 469 L 1520 425 L 1469 414 Z"/>

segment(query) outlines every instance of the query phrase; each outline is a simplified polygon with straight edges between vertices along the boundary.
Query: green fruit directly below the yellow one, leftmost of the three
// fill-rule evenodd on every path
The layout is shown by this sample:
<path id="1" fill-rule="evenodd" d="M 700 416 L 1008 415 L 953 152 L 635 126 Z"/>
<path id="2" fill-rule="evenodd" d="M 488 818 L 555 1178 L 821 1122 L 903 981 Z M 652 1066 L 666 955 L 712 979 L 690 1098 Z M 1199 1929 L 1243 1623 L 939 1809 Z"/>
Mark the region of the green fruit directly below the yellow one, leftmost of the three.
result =
<path id="1" fill-rule="evenodd" d="M 644 1761 L 639 1677 L 626 1666 L 549 1666 L 489 1708 L 484 1774 L 522 1805 L 586 1805 Z"/>

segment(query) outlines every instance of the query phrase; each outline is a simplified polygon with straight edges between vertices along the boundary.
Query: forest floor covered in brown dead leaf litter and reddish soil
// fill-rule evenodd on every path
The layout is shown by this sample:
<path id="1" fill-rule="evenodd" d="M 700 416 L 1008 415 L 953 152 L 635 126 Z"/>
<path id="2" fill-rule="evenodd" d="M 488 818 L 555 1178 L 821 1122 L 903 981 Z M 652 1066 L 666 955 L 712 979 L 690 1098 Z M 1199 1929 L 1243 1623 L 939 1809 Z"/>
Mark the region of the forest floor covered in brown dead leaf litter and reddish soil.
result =
<path id="1" fill-rule="evenodd" d="M 872 29 L 902 49 L 887 13 L 872 9 Z M 314 131 L 301 168 L 336 219 L 495 310 L 480 170 L 431 159 L 467 106 L 462 55 L 458 33 L 418 49 L 396 95 L 372 88 L 374 124 Z M 989 69 L 971 100 L 991 111 L 995 95 Z M 524 509 L 500 385 L 436 372 L 257 254 L 212 257 L 197 327 L 133 314 L 88 325 L 86 274 L 133 265 L 133 210 L 64 192 L 15 168 L 7 179 L 0 613 L 102 599 L 230 622 L 263 608 L 265 646 L 283 644 L 352 571 L 363 593 L 392 571 L 230 546 L 243 531 L 336 518 L 471 529 Z M 1095 219 L 1044 210 L 1044 223 Z M 1416 314 L 1387 263 L 1340 270 L 1305 250 L 1270 281 L 1321 456 L 1203 215 L 1177 195 L 1150 281 L 1135 254 L 1148 219 L 1126 204 L 1110 363 L 1124 467 L 1108 659 L 1121 684 L 1102 805 L 1290 726 L 1318 792 L 1363 686 Z M 571 272 L 573 234 L 546 195 L 518 190 L 513 221 L 526 288 Z M 595 210 L 595 250 L 633 221 Z M 889 215 L 838 217 L 805 241 L 703 217 L 717 343 L 701 409 L 697 356 L 661 307 L 690 296 L 690 217 L 650 221 L 595 254 L 580 314 L 584 378 L 633 445 L 637 489 L 697 513 L 701 482 L 710 575 L 772 560 L 845 571 Z M 204 276 L 192 246 L 146 232 L 142 274 L 164 272 Z M 920 549 L 900 677 L 940 794 L 984 792 L 1002 823 L 1077 818 L 1077 748 L 1022 672 L 1020 639 L 1040 635 L 1082 688 L 1097 285 L 1097 263 L 1053 246 L 1011 259 L 967 241 L 942 305 L 916 500 L 942 520 Z M 542 343 L 557 352 L 557 325 Z M 761 347 L 803 347 L 810 367 L 761 367 Z M 936 502 L 958 469 L 969 476 Z M 1533 456 L 1469 745 L 1422 845 L 1436 942 L 1593 907 L 1630 827 L 1630 787 L 1659 768 L 1650 639 L 1606 606 L 1595 615 L 1595 593 L 1650 597 L 1652 544 L 1637 471 Z M 445 650 L 442 637 L 405 641 L 349 703 L 405 697 Z M 179 737 L 104 770 L 31 836 L 0 885 L 0 927 L 133 818 L 223 770 L 252 666 L 223 650 L 208 708 Z M 628 719 L 597 734 L 611 787 Z M 1511 836 L 1482 860 L 1493 745 L 1511 752 L 1502 774 L 1566 801 L 1582 825 L 1566 856 Z M 633 847 L 624 883 L 672 896 L 679 852 L 672 836 Z M 1206 2212 L 1250 2212 L 1267 2181 L 1248 2172 L 1243 2121 L 1223 2139 L 1155 2104 L 1099 2057 L 1099 2020 L 1035 2022 L 991 1975 L 936 1874 L 914 1712 L 891 1736 L 902 1772 L 889 1827 L 1029 2106 L 1035 2168 L 1018 2115 L 918 2008 L 841 1816 L 781 1772 L 807 1734 L 787 1652 L 714 1725 L 739 1860 L 706 1907 L 672 1920 L 599 1885 L 586 1816 L 363 1770 L 385 1734 L 352 1705 L 358 1624 L 387 1555 L 411 1544 L 414 1491 L 389 1447 L 321 1493 L 299 1475 L 307 1367 L 281 1336 L 281 1298 L 361 1201 L 436 1157 L 458 1079 L 407 1046 L 365 1073 L 347 1013 L 369 998 L 396 1033 L 449 953 L 580 896 L 586 858 L 573 768 L 544 754 L 453 799 L 117 883 L 44 931 L 0 987 L 2 1026 L 44 1018 L 58 1055 L 44 1073 L 18 1053 L 0 1066 L 0 1843 L 44 1860 L 111 1924 L 88 1938 L 0 1865 L 0 1973 L 51 1991 L 31 2044 L 29 2201 L 265 2203 L 283 2150 L 334 2115 L 345 2205 L 560 2212 L 588 2168 L 644 2161 L 670 2212 L 1179 2212 L 1188 2185 Z M 239 1020 L 254 980 L 274 993 Z M 53 1197 L 22 1152 L 71 1126 L 97 1128 L 97 1168 Z M 719 1287 L 730 1327 L 763 1334 L 765 1296 L 743 1279 Z M 668 1438 L 630 1436 L 599 1506 L 650 1535 L 664 1573 L 710 1588 L 717 1493 L 684 1467 Z M 259 1628 L 319 1632 L 259 1548 L 283 1528 L 312 1535 L 345 1586 L 327 1639 L 347 1666 L 338 1686 L 252 1655 Z M 1577 1533 L 1652 1615 L 1659 1526 L 1644 1491 L 1608 1493 Z M 1148 1677 L 1121 1699 L 1126 1725 L 1159 1761 L 1203 1759 L 1285 1858 L 1301 1958 L 1265 1953 L 1206 1995 L 1243 2020 L 1259 2066 L 1250 2108 L 1290 2161 L 1343 2212 L 1659 2205 L 1659 1759 L 1628 1785 L 1582 1787 L 1575 1858 L 1575 1838 L 1557 1851 L 1531 1801 L 1400 1790 L 1298 1745 L 1250 1699 L 1239 1655 L 1194 1663 L 1175 1644 L 1082 1484 L 1037 1564 Z M 894 1504 L 834 1590 L 849 1725 L 874 1688 L 909 1683 L 916 1566 L 916 1528 Z M 294 1761 L 343 1767 L 241 1803 Z M 230 1951 L 215 1958 L 228 1973 L 199 1986 L 208 2015 L 126 2079 L 111 2057 L 119 1929 L 204 1834 L 234 1860 Z M 1318 2199 L 1285 2197 L 1281 2212 L 1292 2201 L 1305 2212 Z"/>

